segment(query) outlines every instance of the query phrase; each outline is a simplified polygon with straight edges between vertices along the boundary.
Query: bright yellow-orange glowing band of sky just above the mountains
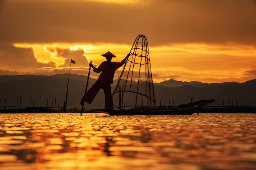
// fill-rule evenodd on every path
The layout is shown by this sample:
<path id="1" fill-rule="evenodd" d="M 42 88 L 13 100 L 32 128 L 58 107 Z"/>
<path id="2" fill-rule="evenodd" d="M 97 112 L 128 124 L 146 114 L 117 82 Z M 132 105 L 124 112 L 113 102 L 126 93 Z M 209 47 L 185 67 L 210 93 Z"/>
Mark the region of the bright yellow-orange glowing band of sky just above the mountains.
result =
<path id="1" fill-rule="evenodd" d="M 74 74 L 85 74 L 92 60 L 98 66 L 106 59 L 101 56 L 107 51 L 121 61 L 130 51 L 130 45 L 112 43 L 52 43 L 52 44 L 14 44 L 17 48 L 33 48 L 34 57 L 39 63 L 54 63 L 42 70 L 67 70 L 70 58 Z M 70 53 L 71 52 L 71 53 Z M 71 56 L 72 52 L 79 52 Z M 220 83 L 234 79 L 244 82 L 254 79 L 256 48 L 239 44 L 168 44 L 149 46 L 153 81 L 159 83 L 171 78 L 177 81 L 202 81 Z M 119 74 L 121 69 L 119 68 Z M 117 74 L 117 72 L 116 72 Z M 98 74 L 92 74 L 97 78 Z M 115 76 L 117 78 L 117 75 Z"/>

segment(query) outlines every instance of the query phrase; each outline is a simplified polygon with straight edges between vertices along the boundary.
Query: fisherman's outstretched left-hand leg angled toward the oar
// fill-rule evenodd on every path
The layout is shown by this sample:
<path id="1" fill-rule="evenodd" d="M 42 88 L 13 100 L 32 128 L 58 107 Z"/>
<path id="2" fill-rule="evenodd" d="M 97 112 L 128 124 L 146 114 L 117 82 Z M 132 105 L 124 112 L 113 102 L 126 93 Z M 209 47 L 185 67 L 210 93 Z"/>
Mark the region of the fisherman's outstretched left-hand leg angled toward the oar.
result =
<path id="1" fill-rule="evenodd" d="M 92 100 L 95 98 L 95 96 L 98 94 L 99 90 L 101 89 L 103 83 L 100 81 L 96 81 L 94 85 L 85 93 L 83 98 L 81 99 L 80 104 L 82 105 L 83 101 L 88 102 L 89 104 L 92 103 Z"/>

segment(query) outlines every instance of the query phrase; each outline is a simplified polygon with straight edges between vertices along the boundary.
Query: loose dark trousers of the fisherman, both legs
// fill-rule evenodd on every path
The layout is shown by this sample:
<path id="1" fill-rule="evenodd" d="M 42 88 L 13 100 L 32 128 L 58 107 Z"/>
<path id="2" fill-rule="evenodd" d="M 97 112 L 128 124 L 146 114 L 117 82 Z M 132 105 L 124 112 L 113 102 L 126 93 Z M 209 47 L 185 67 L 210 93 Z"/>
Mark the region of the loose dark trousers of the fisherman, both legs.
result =
<path id="1" fill-rule="evenodd" d="M 92 103 L 92 100 L 95 98 L 95 96 L 98 94 L 99 90 L 103 89 L 105 94 L 105 109 L 113 109 L 113 98 L 111 94 L 111 87 L 110 83 L 106 82 L 103 83 L 99 80 L 97 80 L 94 85 L 85 93 L 82 100 L 85 102 L 88 102 L 89 104 Z"/>

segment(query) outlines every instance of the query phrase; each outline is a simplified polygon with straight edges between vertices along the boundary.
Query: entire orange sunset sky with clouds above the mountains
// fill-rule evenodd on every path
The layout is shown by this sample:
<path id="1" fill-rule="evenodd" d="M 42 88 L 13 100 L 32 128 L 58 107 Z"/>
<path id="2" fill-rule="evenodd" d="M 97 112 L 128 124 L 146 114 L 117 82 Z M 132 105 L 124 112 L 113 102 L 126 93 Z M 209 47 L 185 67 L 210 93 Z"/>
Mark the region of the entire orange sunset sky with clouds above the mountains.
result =
<path id="1" fill-rule="evenodd" d="M 256 0 L 0 0 L 0 75 L 68 73 L 71 58 L 88 75 L 140 34 L 155 83 L 256 78 Z"/>

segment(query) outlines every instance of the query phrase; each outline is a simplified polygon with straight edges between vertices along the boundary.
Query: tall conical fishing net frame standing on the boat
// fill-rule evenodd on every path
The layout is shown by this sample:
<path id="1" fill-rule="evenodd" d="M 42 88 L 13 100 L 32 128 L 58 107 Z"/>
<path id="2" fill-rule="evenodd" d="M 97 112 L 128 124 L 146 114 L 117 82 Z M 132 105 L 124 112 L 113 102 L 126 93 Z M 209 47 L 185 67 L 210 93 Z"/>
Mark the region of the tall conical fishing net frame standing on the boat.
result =
<path id="1" fill-rule="evenodd" d="M 120 110 L 152 109 L 156 101 L 148 41 L 144 35 L 135 39 L 130 54 L 112 94 L 114 106 Z"/>

